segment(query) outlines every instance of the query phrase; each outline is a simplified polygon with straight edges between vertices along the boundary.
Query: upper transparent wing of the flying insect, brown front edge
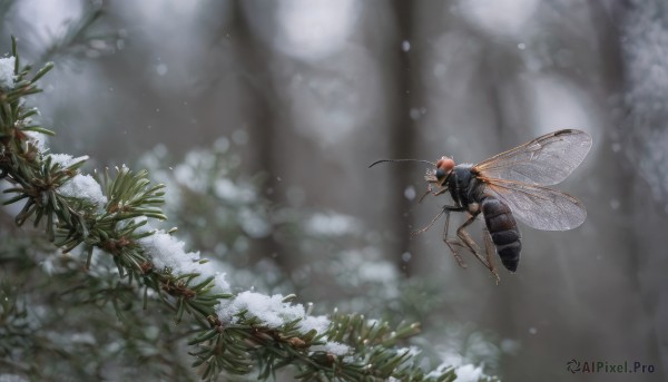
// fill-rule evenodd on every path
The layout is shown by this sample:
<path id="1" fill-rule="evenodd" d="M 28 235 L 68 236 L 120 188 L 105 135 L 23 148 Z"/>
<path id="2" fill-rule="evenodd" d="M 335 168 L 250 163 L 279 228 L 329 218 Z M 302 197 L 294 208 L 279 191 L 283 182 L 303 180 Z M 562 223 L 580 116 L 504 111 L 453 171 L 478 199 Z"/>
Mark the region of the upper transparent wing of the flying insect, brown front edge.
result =
<path id="1" fill-rule="evenodd" d="M 550 186 L 566 179 L 590 148 L 589 134 L 559 130 L 481 161 L 473 170 L 488 178 Z"/>

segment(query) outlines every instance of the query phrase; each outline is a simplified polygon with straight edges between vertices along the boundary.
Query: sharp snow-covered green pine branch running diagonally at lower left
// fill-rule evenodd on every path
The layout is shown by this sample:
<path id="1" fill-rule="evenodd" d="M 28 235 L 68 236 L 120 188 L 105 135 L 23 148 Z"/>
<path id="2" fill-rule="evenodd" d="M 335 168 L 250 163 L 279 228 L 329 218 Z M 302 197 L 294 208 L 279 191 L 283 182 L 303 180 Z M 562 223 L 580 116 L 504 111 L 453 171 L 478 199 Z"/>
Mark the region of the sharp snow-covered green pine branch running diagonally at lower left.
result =
<path id="1" fill-rule="evenodd" d="M 31 120 L 37 110 L 27 108 L 24 99 L 41 91 L 36 81 L 52 63 L 30 77 L 31 68 L 20 67 L 13 39 L 12 57 L 3 60 L 8 61 L 0 62 L 0 178 L 11 184 L 3 204 L 24 203 L 16 224 L 31 222 L 42 227 L 65 253 L 84 248 L 87 268 L 96 253 L 110 256 L 128 286 L 137 283 L 144 288 L 145 308 L 148 292 L 157 293 L 174 312 L 175 322 L 188 320 L 195 325 L 190 354 L 204 380 L 216 380 L 223 372 L 256 372 L 267 379 L 286 366 L 296 369 L 295 376 L 303 381 L 456 378 L 454 368 L 424 371 L 414 351 L 399 347 L 419 333 L 418 324 L 392 327 L 387 322 L 336 312 L 330 317 L 313 316 L 292 303 L 292 295 L 229 293 L 224 275 L 207 259 L 186 253 L 173 232 L 151 225 L 167 218 L 160 208 L 165 186 L 151 184 L 147 172 L 124 166 L 104 175 L 84 175 L 87 157 L 40 148 L 39 135 L 53 133 Z M 10 66 L 12 74 L 2 78 Z M 3 306 L 2 312 L 13 314 L 14 306 Z M 122 317 L 122 310 L 115 307 Z"/>

